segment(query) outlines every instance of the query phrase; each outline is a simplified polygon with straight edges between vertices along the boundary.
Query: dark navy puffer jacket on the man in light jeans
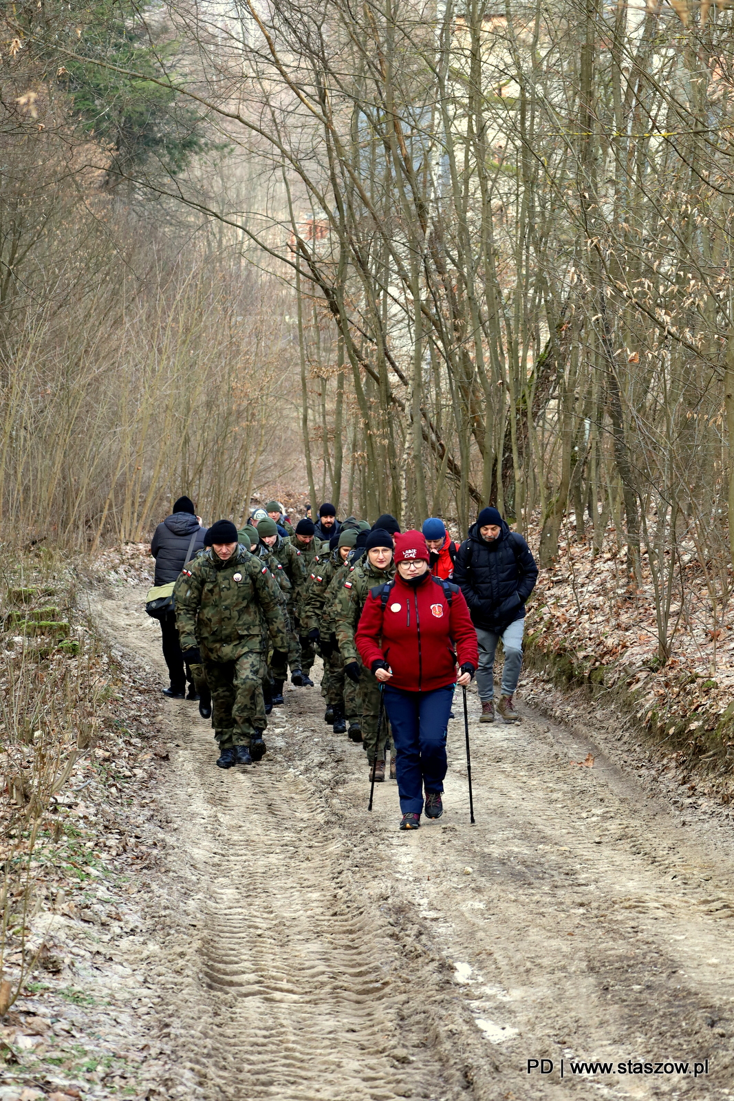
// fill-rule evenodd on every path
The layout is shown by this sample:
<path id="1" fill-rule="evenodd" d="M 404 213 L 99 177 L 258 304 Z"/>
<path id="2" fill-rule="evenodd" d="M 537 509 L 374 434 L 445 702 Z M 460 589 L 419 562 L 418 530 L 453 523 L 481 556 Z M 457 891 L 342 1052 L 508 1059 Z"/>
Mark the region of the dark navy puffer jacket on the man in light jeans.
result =
<path id="1" fill-rule="evenodd" d="M 500 535 L 487 543 L 479 524 L 457 550 L 453 582 L 469 604 L 472 623 L 497 634 L 525 615 L 525 601 L 538 579 L 538 567 L 522 535 L 502 521 Z"/>

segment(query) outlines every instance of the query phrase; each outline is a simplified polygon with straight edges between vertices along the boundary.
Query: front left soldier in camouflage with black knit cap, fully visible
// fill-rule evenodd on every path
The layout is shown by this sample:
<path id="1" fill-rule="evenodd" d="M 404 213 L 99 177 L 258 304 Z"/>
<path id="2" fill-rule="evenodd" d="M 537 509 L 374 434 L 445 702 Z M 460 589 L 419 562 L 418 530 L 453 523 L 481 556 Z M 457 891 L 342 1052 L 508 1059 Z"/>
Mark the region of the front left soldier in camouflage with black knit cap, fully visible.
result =
<path id="1" fill-rule="evenodd" d="M 265 659 L 263 619 L 276 650 L 287 646 L 276 585 L 266 566 L 238 543 L 229 520 L 208 533 L 211 546 L 184 569 L 176 597 L 182 651 L 201 659 L 211 690 L 211 724 L 220 768 L 251 764 L 250 744 L 266 724 L 260 682 Z M 262 754 L 260 754 L 262 755 Z"/>

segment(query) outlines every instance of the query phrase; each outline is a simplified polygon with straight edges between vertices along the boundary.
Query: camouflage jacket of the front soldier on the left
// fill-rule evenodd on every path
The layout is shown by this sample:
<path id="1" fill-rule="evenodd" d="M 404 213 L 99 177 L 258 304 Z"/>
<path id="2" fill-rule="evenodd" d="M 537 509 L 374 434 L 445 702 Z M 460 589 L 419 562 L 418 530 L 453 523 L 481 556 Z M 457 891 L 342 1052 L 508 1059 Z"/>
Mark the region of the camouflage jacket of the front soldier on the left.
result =
<path id="1" fill-rule="evenodd" d="M 204 657 L 235 662 L 262 650 L 263 619 L 275 650 L 288 648 L 278 588 L 267 566 L 242 546 L 224 563 L 211 548 L 189 563 L 175 600 L 182 650 L 198 645 Z"/>

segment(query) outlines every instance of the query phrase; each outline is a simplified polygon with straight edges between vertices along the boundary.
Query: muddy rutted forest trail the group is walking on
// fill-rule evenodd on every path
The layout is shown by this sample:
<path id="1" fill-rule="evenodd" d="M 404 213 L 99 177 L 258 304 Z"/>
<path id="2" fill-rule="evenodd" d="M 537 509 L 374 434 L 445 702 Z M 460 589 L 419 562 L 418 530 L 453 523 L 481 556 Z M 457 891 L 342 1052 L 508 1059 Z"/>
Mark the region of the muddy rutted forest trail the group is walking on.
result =
<path id="1" fill-rule="evenodd" d="M 163 674 L 143 599 L 91 610 Z M 325 724 L 318 687 L 287 689 L 244 773 L 215 767 L 196 705 L 166 704 L 167 908 L 150 935 L 179 1095 L 734 1095 L 732 827 L 681 825 L 599 745 L 521 707 L 517 728 L 480 726 L 470 693 L 470 826 L 457 696 L 445 815 L 406 835 L 394 783 L 366 813 L 364 754 Z M 570 763 L 588 753 L 593 767 Z M 528 1076 L 540 1058 L 552 1072 Z M 710 1061 L 695 1079 L 574 1077 L 589 1059 Z"/>

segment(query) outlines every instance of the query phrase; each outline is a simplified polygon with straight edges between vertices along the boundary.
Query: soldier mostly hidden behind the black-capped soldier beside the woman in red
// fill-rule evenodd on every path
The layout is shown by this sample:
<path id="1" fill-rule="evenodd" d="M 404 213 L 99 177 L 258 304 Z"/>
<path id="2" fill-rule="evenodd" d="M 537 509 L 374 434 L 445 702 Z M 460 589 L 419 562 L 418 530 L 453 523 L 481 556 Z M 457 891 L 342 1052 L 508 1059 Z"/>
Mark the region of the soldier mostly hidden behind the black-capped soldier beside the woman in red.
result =
<path id="1" fill-rule="evenodd" d="M 318 642 L 324 658 L 325 695 L 327 701 L 324 721 L 333 723 L 335 734 L 343 734 L 349 719 L 349 737 L 362 740 L 361 720 L 357 704 L 357 686 L 344 678 L 344 666 L 339 655 L 336 635 L 336 598 L 341 582 L 350 570 L 347 556 L 357 539 L 357 532 L 342 531 L 337 547 L 328 558 L 318 555 L 314 564 L 306 598 L 305 622 L 311 643 Z"/>

